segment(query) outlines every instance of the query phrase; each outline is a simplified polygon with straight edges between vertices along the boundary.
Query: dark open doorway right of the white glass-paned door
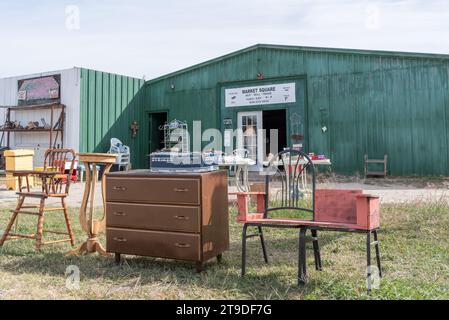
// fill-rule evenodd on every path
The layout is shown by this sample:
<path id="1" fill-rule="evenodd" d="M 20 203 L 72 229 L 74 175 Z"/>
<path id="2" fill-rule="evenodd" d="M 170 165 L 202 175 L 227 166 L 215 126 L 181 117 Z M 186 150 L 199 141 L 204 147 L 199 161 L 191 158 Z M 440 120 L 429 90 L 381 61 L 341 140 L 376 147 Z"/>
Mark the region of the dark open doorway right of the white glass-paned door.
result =
<path id="1" fill-rule="evenodd" d="M 286 110 L 270 110 L 263 112 L 263 129 L 265 129 L 265 157 L 269 153 L 277 154 L 287 147 L 287 113 Z M 270 130 L 278 130 L 278 143 L 275 150 L 271 150 L 273 143 Z"/>

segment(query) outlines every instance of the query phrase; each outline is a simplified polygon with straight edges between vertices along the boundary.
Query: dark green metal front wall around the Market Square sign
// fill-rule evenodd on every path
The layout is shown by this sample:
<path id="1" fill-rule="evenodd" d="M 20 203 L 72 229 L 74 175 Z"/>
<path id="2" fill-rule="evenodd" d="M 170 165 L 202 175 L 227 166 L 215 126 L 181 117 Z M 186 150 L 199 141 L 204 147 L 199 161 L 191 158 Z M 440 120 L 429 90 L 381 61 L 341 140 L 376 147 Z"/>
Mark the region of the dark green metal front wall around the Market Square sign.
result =
<path id="1" fill-rule="evenodd" d="M 449 174 L 449 56 L 258 45 L 147 82 L 144 112 L 221 128 L 220 88 L 258 72 L 306 79 L 309 151 L 336 172 L 386 153 L 393 175 Z"/>

